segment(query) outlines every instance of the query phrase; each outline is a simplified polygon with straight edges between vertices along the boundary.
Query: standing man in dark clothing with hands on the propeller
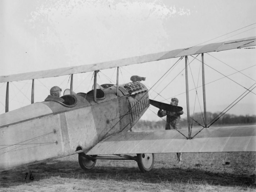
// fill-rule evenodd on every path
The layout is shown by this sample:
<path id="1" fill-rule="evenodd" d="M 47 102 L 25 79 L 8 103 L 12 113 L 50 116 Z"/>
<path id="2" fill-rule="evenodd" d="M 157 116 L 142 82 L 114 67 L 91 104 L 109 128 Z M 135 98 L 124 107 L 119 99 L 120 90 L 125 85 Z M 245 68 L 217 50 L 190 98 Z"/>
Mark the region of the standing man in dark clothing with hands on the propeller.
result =
<path id="1" fill-rule="evenodd" d="M 177 98 L 172 98 L 170 104 L 178 105 L 179 100 Z M 180 125 L 180 115 L 183 114 L 183 111 L 180 112 L 169 112 L 169 111 L 162 111 L 159 110 L 157 115 L 158 117 L 164 117 L 166 115 L 166 124 L 165 130 L 179 130 L 181 129 Z M 181 153 L 177 153 L 178 161 L 181 161 Z"/>

